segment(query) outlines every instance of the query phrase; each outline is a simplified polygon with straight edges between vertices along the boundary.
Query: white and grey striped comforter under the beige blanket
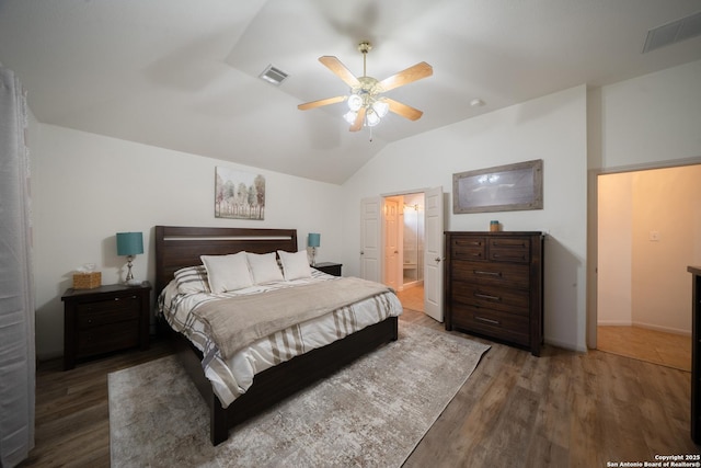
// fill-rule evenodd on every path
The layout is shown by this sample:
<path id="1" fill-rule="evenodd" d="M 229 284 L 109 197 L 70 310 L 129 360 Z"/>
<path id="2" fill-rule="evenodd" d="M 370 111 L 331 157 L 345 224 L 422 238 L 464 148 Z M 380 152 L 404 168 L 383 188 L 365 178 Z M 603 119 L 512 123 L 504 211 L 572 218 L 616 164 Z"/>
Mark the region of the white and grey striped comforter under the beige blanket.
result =
<path id="1" fill-rule="evenodd" d="M 260 339 L 239 350 L 228 359 L 222 358 L 222 353 L 205 332 L 205 324 L 192 313 L 192 310 L 205 303 L 239 295 L 260 295 L 261 300 L 265 300 L 265 293 L 269 290 L 335 279 L 336 276 L 313 270 L 309 278 L 255 285 L 222 294 L 183 294 L 179 290 L 177 279 L 173 279 L 159 296 L 159 311 L 175 331 L 183 333 L 202 351 L 205 376 L 211 381 L 214 392 L 219 397 L 222 407 L 227 408 L 249 389 L 255 374 L 345 338 L 388 317 L 397 317 L 402 313 L 401 303 L 393 293 L 383 293 Z"/>

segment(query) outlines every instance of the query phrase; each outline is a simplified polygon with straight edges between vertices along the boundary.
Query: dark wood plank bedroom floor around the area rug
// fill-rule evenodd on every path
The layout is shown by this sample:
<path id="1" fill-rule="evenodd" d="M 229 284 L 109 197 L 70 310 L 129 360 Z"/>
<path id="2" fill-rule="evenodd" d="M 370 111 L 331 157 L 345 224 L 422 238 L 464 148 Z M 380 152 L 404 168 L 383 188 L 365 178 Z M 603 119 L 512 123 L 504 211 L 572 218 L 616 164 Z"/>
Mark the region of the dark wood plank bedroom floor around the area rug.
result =
<path id="1" fill-rule="evenodd" d="M 402 320 L 443 330 L 412 310 Z M 701 453 L 689 436 L 689 373 L 599 351 L 545 346 L 533 357 L 475 340 L 492 349 L 405 467 L 606 467 Z M 107 373 L 169 353 L 156 342 L 69 372 L 41 364 L 36 447 L 21 466 L 110 466 Z"/>

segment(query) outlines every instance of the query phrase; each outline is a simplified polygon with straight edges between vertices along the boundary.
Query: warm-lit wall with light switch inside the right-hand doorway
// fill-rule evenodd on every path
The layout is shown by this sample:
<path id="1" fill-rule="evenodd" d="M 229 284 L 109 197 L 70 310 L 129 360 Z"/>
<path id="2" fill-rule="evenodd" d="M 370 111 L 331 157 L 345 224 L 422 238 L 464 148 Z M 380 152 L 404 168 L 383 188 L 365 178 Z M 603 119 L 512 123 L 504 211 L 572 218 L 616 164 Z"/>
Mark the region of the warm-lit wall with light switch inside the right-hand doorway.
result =
<path id="1" fill-rule="evenodd" d="M 701 264 L 696 230 L 701 165 L 633 173 L 633 323 L 691 335 L 690 264 Z M 694 221 L 696 218 L 696 221 Z M 650 232 L 656 231 L 657 241 Z"/>

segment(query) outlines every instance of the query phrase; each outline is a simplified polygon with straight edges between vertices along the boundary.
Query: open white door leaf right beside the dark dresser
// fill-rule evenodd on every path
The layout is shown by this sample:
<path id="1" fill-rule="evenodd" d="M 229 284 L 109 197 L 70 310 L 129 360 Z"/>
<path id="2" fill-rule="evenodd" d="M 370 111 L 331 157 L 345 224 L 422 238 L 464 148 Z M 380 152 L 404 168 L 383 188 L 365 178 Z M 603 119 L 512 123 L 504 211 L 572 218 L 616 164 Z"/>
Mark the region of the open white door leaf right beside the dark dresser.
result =
<path id="1" fill-rule="evenodd" d="M 444 216 L 443 187 L 425 194 L 424 312 L 443 322 Z"/>

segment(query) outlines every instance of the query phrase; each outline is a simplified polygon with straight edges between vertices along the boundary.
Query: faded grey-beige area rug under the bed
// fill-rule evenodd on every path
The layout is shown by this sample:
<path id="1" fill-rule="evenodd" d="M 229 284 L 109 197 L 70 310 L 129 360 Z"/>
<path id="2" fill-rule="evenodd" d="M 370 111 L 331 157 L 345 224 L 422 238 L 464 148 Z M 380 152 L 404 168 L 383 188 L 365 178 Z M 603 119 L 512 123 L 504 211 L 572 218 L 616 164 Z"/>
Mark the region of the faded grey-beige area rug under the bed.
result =
<path id="1" fill-rule="evenodd" d="M 399 467 L 490 346 L 400 320 L 399 340 L 209 441 L 174 356 L 108 375 L 113 467 Z"/>

